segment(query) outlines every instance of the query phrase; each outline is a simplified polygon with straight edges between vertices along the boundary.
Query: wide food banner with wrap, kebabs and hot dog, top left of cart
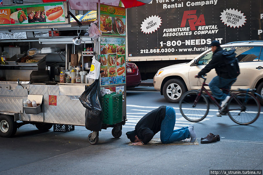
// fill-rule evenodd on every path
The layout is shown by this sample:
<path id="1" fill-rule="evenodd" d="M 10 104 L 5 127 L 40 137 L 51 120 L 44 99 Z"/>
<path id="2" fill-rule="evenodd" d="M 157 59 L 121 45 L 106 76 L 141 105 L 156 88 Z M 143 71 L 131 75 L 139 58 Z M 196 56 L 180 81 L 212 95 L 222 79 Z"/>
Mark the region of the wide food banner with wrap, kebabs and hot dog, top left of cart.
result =
<path id="1" fill-rule="evenodd" d="M 65 23 L 63 2 L 0 7 L 0 26 Z"/>

